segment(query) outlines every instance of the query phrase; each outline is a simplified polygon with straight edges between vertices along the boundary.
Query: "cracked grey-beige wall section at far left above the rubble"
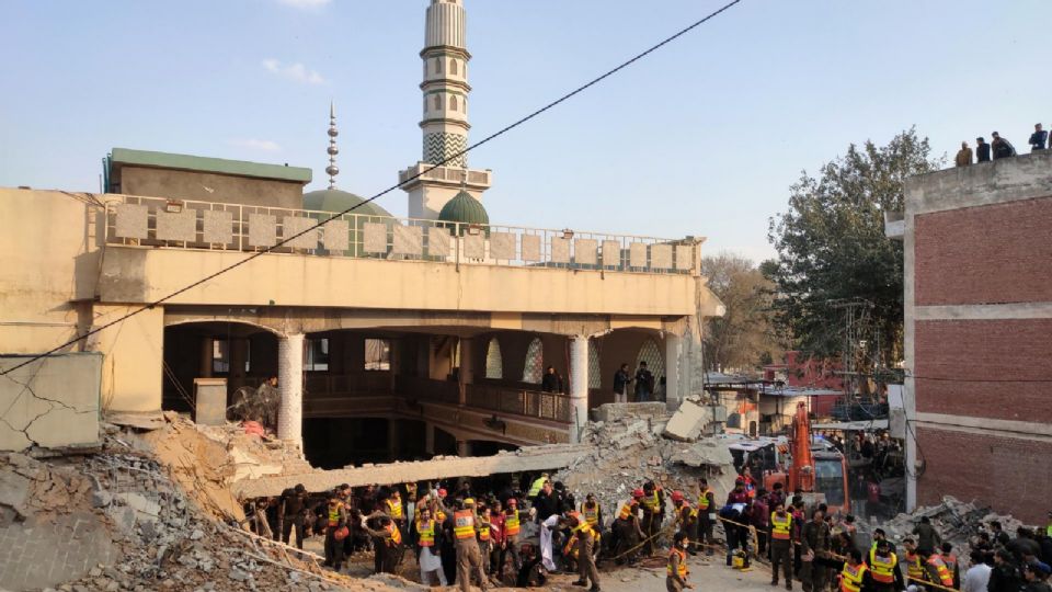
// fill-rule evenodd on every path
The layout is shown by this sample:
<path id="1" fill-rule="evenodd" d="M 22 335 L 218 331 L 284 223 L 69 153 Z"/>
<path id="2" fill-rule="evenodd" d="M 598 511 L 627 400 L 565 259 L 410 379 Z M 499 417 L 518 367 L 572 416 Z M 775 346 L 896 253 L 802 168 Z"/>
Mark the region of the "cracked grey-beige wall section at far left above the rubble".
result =
<path id="1" fill-rule="evenodd" d="M 28 356 L 0 357 L 0 371 Z M 58 354 L 0 376 L 0 451 L 99 441 L 102 355 Z"/>

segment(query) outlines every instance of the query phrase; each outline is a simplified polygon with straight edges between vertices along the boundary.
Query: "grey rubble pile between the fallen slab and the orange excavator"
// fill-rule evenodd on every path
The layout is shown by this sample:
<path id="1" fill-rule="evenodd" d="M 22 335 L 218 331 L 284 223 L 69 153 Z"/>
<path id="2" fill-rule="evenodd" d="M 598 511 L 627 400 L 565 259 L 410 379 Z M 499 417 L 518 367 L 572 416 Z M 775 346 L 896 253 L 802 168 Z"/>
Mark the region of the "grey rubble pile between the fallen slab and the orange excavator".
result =
<path id="1" fill-rule="evenodd" d="M 582 437 L 583 443 L 592 446 L 591 452 L 556 473 L 552 480 L 561 481 L 579 501 L 587 493 L 595 493 L 610 513 L 647 480 L 653 480 L 666 491 L 682 490 L 696 500 L 698 478 L 707 477 L 717 500 L 721 500 L 734 488 L 735 478 L 725 442 L 709 437 L 681 442 L 665 437 L 670 415 L 664 412 L 664 403 L 656 405 L 661 406 L 661 413 L 629 410 L 604 414 L 601 411 L 598 417 L 605 421 L 588 423 Z"/>

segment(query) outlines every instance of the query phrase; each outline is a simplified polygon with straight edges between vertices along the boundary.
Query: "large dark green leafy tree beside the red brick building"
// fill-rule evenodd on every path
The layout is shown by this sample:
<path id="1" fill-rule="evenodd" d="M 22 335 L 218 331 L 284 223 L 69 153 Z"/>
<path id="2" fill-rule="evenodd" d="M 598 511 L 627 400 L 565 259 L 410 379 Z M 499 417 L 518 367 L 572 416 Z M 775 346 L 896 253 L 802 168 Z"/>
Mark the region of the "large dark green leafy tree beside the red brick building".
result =
<path id="1" fill-rule="evenodd" d="M 797 348 L 843 353 L 843 305 L 862 303 L 864 333 L 879 335 L 883 363 L 901 360 L 902 242 L 884 237 L 883 213 L 903 209 L 907 178 L 942 167 L 945 157 L 930 152 L 928 139 L 910 128 L 887 146 L 853 144 L 819 178 L 804 171 L 790 187 L 789 209 L 770 219 L 778 259 L 767 271 L 778 287 L 777 322 Z"/>

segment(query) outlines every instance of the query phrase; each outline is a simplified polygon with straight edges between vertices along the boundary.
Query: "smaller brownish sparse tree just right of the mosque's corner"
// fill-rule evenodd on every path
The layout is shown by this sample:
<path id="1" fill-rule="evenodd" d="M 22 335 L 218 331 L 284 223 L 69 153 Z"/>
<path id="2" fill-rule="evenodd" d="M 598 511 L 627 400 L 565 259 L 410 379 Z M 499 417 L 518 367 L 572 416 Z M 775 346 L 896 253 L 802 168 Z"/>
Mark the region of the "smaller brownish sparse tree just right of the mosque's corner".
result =
<path id="1" fill-rule="evenodd" d="M 707 319 L 709 369 L 753 369 L 780 356 L 770 307 L 774 283 L 752 261 L 729 253 L 702 259 L 701 274 L 727 307 L 722 317 Z"/>

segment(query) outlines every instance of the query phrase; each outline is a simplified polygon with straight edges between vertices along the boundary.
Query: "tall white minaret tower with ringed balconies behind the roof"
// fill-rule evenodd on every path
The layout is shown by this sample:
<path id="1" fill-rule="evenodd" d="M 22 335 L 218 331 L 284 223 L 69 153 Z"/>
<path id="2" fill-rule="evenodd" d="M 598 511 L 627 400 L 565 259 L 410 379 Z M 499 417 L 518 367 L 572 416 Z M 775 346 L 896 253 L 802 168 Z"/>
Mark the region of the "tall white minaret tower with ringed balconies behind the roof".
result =
<path id="1" fill-rule="evenodd" d="M 451 158 L 468 147 L 468 61 L 471 54 L 465 44 L 462 0 L 431 0 L 424 32 L 423 157 L 415 166 L 399 173 L 403 181 L 445 161 L 439 168 L 402 189 L 409 193 L 409 217 L 435 219 L 442 206 L 461 190 L 481 201 L 491 184 L 492 173 L 468 169 L 467 156 Z"/>

